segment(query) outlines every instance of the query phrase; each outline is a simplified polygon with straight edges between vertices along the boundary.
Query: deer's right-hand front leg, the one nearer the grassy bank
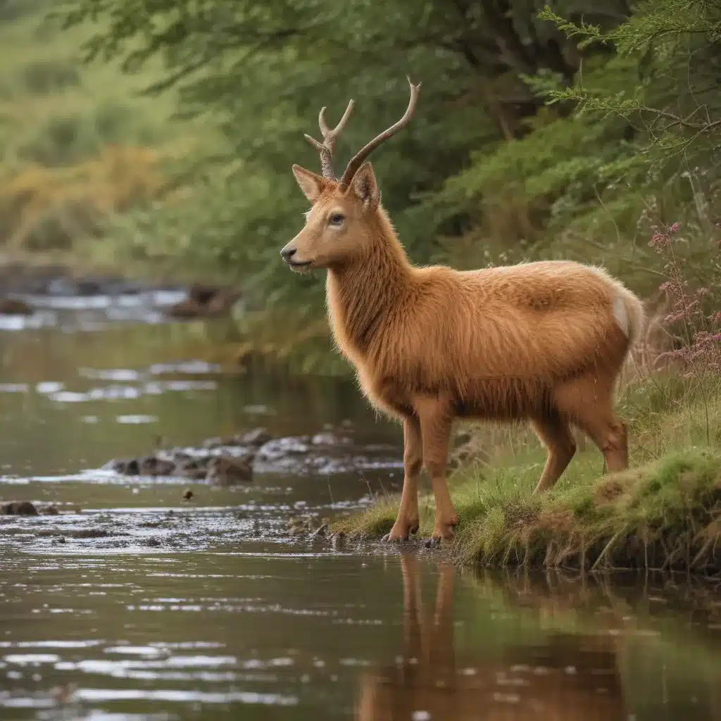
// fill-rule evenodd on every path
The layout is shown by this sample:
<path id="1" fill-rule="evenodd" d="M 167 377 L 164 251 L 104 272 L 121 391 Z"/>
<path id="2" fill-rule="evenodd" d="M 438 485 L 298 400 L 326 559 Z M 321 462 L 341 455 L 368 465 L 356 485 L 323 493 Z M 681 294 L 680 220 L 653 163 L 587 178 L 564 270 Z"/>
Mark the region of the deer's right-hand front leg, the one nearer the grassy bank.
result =
<path id="1" fill-rule="evenodd" d="M 427 396 L 417 399 L 415 408 L 423 432 L 423 464 L 430 475 L 435 498 L 435 528 L 431 540 L 451 539 L 459 521 L 446 482 L 453 406 L 443 397 Z"/>

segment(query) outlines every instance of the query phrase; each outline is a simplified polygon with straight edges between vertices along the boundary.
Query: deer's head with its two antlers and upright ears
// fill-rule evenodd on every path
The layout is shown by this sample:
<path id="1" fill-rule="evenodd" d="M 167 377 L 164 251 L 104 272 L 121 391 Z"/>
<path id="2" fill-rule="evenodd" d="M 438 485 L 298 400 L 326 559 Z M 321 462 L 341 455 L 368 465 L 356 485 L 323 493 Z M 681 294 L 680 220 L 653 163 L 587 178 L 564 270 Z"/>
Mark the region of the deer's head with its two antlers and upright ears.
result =
<path id="1" fill-rule="evenodd" d="M 410 122 L 420 93 L 420 83 L 410 79 L 410 102 L 405 115 L 394 125 L 368 143 L 350 159 L 340 180 L 333 171 L 333 148 L 335 141 L 348 123 L 353 111 L 353 100 L 343 113 L 335 128 L 325 121 L 325 108 L 318 116 L 323 136 L 319 143 L 310 136 L 306 139 L 320 153 L 322 175 L 293 165 L 293 174 L 301 190 L 312 203 L 306 213 L 306 224 L 291 242 L 280 251 L 288 265 L 297 271 L 342 265 L 353 257 L 363 254 L 372 242 L 371 220 L 381 203 L 381 193 L 373 167 L 366 158 L 381 143 L 394 136 Z"/>

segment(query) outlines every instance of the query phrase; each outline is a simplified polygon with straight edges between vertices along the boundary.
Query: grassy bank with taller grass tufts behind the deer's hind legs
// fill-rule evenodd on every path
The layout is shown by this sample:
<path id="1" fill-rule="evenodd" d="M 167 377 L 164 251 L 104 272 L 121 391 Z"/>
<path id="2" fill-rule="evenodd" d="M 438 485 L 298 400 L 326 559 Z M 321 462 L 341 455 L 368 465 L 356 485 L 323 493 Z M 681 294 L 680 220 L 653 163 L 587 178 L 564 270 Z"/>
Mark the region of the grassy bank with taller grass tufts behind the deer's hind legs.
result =
<path id="1" fill-rule="evenodd" d="M 629 421 L 631 466 L 603 474 L 585 444 L 554 489 L 531 497 L 544 451 L 521 430 L 480 429 L 476 448 L 451 475 L 461 522 L 448 551 L 488 566 L 721 569 L 721 392 L 667 381 L 635 384 L 621 401 Z M 684 387 L 686 388 L 684 390 Z M 399 498 L 383 497 L 336 531 L 379 538 Z M 433 497 L 421 499 L 420 534 L 433 528 Z"/>

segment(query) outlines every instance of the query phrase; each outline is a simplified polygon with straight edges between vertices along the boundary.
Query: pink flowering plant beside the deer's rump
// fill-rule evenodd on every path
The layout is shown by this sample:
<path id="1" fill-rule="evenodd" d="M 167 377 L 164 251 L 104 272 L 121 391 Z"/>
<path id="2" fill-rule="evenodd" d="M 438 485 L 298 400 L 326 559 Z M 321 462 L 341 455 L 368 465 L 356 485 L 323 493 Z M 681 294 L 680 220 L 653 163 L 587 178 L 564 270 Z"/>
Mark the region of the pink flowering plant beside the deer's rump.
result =
<path id="1" fill-rule="evenodd" d="M 717 224 L 717 228 L 721 224 Z M 667 279 L 659 290 L 668 299 L 668 314 L 665 322 L 681 329 L 681 342 L 678 347 L 658 356 L 673 358 L 684 367 L 684 376 L 705 375 L 708 372 L 721 373 L 721 311 L 713 307 L 717 298 L 709 288 L 691 288 L 684 275 L 684 266 L 674 252 L 681 240 L 678 232 L 680 223 L 670 226 L 654 225 L 649 245 L 665 255 L 665 275 Z M 717 244 L 718 246 L 718 244 Z M 709 258 L 712 264 L 716 259 Z M 718 269 L 719 265 L 713 266 Z M 713 287 L 721 288 L 721 273 L 715 273 Z"/>

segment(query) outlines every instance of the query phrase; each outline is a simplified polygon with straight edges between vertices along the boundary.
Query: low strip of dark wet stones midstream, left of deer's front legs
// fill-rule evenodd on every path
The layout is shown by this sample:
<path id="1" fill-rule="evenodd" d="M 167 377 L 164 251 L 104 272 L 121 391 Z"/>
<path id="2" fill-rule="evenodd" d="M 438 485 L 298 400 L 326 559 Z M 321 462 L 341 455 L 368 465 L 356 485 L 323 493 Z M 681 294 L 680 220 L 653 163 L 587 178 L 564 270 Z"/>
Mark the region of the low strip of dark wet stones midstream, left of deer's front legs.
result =
<path id="1" fill-rule="evenodd" d="M 313 435 L 275 438 L 255 428 L 228 438 L 206 438 L 198 446 L 157 448 L 153 454 L 112 459 L 102 467 L 121 476 L 167 477 L 234 486 L 252 482 L 256 473 L 332 474 L 393 468 L 400 464 L 393 446 L 355 443 L 350 422 L 326 425 Z"/>

